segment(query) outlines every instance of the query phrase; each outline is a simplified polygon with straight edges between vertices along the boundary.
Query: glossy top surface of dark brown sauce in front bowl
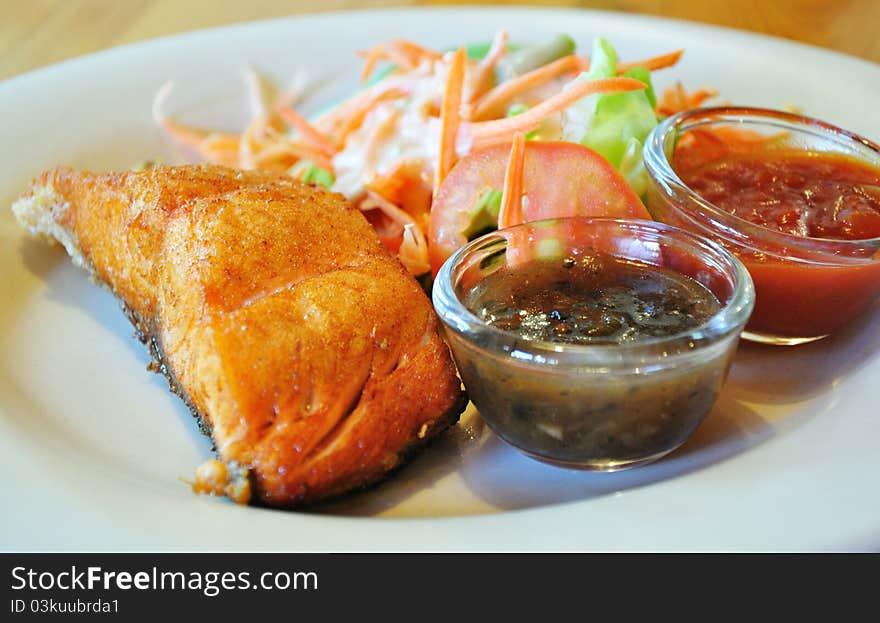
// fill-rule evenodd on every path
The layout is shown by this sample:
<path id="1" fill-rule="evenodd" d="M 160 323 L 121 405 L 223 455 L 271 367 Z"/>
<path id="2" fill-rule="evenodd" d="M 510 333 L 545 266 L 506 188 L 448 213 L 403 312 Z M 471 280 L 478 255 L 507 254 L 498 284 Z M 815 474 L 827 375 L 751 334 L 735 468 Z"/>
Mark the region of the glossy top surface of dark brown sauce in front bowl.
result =
<path id="1" fill-rule="evenodd" d="M 471 290 L 465 304 L 523 339 L 573 344 L 668 337 L 721 307 L 686 275 L 599 253 L 501 268 Z"/>

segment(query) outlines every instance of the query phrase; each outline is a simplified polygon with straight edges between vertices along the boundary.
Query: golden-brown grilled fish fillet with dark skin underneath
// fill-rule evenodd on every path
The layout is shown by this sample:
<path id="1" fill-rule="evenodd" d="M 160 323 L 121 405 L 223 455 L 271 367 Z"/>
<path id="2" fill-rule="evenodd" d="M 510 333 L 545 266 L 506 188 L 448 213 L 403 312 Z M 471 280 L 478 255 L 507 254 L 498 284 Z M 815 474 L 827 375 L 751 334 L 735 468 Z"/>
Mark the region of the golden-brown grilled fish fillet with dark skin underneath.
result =
<path id="1" fill-rule="evenodd" d="M 265 504 L 373 483 L 464 408 L 430 302 L 341 195 L 217 166 L 58 168 L 13 211 L 121 299 Z"/>

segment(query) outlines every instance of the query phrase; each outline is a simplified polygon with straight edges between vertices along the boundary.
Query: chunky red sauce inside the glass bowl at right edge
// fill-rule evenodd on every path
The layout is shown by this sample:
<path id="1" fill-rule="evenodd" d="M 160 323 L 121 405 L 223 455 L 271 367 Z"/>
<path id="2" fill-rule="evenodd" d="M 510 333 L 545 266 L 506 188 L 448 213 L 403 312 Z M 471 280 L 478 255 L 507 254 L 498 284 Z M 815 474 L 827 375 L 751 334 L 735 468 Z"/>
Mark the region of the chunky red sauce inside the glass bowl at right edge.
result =
<path id="1" fill-rule="evenodd" d="M 685 142 L 675 152 L 676 172 L 717 207 L 762 227 L 830 240 L 880 237 L 880 168 L 753 137 L 745 143 Z M 804 263 L 789 259 L 791 247 L 753 242 L 756 250 L 731 246 L 755 282 L 749 331 L 818 337 L 863 313 L 880 295 L 878 253 L 875 261 L 869 251 L 864 262 Z"/>

